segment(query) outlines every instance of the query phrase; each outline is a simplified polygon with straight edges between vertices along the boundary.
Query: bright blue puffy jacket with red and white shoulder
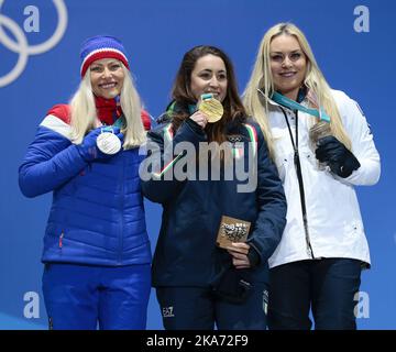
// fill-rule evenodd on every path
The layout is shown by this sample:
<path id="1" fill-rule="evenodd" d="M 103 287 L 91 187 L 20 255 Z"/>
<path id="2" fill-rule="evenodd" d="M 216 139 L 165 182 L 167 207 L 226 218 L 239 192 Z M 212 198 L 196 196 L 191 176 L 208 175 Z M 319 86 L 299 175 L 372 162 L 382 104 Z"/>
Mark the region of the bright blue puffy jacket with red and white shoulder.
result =
<path id="1" fill-rule="evenodd" d="M 53 191 L 43 262 L 130 265 L 151 262 L 139 148 L 87 163 L 70 142 L 67 106 L 40 124 L 19 169 L 26 197 Z"/>

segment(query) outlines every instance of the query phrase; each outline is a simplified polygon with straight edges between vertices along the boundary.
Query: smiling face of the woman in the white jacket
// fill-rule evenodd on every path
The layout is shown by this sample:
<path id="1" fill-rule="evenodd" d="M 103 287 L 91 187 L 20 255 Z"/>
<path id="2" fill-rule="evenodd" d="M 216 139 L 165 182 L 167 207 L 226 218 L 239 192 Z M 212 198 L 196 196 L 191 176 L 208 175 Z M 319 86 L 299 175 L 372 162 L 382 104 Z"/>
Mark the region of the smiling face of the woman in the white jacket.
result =
<path id="1" fill-rule="evenodd" d="M 296 100 L 307 72 L 307 57 L 293 35 L 280 34 L 270 44 L 271 72 L 275 90 Z"/>

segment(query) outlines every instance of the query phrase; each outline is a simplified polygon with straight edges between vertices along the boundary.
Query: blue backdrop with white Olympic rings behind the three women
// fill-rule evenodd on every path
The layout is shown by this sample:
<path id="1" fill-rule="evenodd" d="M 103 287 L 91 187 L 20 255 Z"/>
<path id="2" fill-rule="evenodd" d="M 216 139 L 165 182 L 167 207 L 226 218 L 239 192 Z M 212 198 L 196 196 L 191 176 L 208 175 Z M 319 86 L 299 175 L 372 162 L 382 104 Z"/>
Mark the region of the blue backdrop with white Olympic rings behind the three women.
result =
<path id="1" fill-rule="evenodd" d="M 242 91 L 262 35 L 280 21 L 302 29 L 330 85 L 358 100 L 372 125 L 383 172 L 376 186 L 358 189 L 372 255 L 358 324 L 395 329 L 395 20 L 392 0 L 0 0 L 0 329 L 46 328 L 40 257 L 51 195 L 23 198 L 18 166 L 47 109 L 67 102 L 77 88 L 80 43 L 96 34 L 119 36 L 155 117 L 187 50 L 222 47 Z M 146 219 L 154 249 L 160 207 L 147 202 Z M 148 329 L 161 328 L 152 295 Z"/>

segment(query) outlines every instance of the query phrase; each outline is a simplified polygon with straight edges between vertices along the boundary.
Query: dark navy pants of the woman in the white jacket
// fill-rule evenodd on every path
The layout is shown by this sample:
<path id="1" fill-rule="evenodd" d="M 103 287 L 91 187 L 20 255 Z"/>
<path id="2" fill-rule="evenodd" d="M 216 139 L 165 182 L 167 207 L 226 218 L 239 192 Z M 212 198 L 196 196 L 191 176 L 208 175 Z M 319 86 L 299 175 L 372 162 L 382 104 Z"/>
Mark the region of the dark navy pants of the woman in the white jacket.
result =
<path id="1" fill-rule="evenodd" d="M 350 258 L 299 261 L 270 270 L 268 327 L 309 330 L 355 330 L 355 294 L 361 262 Z"/>

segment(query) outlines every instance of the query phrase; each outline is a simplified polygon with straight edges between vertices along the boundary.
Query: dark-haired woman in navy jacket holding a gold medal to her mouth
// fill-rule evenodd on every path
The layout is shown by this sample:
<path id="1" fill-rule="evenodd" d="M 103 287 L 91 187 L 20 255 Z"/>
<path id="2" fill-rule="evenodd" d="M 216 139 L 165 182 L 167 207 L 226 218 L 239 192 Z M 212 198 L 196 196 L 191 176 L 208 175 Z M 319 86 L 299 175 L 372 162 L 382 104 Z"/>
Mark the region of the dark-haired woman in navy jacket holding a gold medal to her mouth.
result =
<path id="1" fill-rule="evenodd" d="M 219 48 L 187 52 L 172 96 L 141 168 L 144 195 L 164 208 L 152 271 L 164 327 L 265 329 L 286 201 L 263 134 Z"/>

